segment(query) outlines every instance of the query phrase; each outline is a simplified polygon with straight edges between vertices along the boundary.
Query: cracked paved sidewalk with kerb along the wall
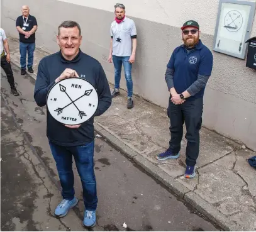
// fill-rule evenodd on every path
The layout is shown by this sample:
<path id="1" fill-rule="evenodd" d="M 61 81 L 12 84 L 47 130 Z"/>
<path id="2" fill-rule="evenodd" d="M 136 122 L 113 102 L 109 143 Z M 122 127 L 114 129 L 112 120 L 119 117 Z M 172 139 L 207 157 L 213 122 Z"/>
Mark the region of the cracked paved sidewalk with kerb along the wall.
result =
<path id="1" fill-rule="evenodd" d="M 19 66 L 18 40 L 10 38 L 9 45 L 11 59 Z M 40 59 L 47 54 L 36 49 L 35 74 Z M 95 119 L 96 132 L 223 229 L 256 231 L 256 170 L 247 162 L 255 152 L 202 128 L 198 175 L 186 180 L 185 138 L 179 159 L 155 159 L 169 145 L 166 111 L 138 97 L 135 108 L 129 110 L 125 96 L 121 91 L 111 108 Z"/>

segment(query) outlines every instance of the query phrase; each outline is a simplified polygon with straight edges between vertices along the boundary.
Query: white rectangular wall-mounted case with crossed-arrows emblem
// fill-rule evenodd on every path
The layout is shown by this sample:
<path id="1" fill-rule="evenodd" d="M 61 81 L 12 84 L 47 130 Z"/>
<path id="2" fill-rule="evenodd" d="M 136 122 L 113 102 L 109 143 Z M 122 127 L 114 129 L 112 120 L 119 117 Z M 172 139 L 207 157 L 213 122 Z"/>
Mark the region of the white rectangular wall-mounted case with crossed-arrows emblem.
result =
<path id="1" fill-rule="evenodd" d="M 244 59 L 254 13 L 255 2 L 220 0 L 213 50 Z"/>

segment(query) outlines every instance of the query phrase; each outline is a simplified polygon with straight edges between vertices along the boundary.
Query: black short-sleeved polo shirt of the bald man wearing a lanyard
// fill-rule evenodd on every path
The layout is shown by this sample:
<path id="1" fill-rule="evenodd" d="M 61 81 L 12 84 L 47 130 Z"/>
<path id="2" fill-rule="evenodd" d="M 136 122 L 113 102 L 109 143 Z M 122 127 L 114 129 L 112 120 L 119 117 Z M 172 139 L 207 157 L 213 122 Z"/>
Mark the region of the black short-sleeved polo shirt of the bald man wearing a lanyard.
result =
<path id="1" fill-rule="evenodd" d="M 24 26 L 25 23 L 28 26 Z M 21 29 L 24 26 L 24 28 L 26 28 L 25 31 L 31 31 L 33 26 L 37 26 L 37 21 L 36 18 L 34 16 L 31 16 L 30 14 L 28 15 L 28 21 L 26 21 L 26 18 L 23 18 L 23 16 L 21 15 L 16 19 L 16 26 L 20 26 Z M 33 33 L 33 35 L 31 35 L 29 38 L 25 38 L 25 35 L 19 33 L 19 41 L 22 43 L 35 43 L 35 33 Z"/>

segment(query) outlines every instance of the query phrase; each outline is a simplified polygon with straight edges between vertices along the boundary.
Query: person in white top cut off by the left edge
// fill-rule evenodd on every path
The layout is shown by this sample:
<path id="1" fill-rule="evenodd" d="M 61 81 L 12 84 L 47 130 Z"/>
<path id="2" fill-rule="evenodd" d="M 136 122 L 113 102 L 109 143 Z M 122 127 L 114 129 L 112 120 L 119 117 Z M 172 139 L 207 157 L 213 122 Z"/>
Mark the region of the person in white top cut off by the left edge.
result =
<path id="1" fill-rule="evenodd" d="M 5 32 L 0 28 L 0 54 L 1 54 L 1 67 L 7 75 L 7 80 L 11 86 L 11 94 L 19 96 L 18 91 L 15 88 L 13 70 L 11 69 L 11 58 L 9 53 L 9 45 L 5 35 Z"/>

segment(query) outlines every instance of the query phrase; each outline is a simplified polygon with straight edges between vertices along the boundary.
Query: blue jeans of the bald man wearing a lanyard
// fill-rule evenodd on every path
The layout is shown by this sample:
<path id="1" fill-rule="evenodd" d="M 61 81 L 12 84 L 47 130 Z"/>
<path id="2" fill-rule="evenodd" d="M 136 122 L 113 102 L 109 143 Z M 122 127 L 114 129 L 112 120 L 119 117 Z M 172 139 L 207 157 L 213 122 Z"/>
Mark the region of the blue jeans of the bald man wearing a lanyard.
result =
<path id="1" fill-rule="evenodd" d="M 36 43 L 19 42 L 19 53 L 21 54 L 21 58 L 20 58 L 21 69 L 26 69 L 26 51 L 28 51 L 28 67 L 33 66 L 35 47 L 36 47 Z"/>

